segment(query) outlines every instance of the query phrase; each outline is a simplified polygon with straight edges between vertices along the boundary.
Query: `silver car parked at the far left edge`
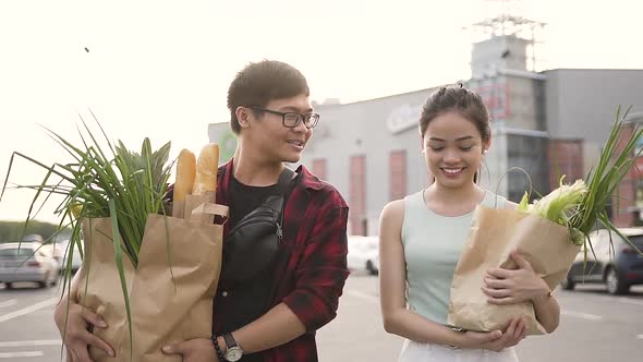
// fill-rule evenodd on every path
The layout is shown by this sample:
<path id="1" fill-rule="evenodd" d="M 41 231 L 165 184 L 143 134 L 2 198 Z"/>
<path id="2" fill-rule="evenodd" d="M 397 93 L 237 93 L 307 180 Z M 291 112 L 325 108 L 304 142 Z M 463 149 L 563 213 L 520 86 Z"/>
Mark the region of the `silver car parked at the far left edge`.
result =
<path id="1" fill-rule="evenodd" d="M 0 244 L 0 282 L 8 289 L 17 281 L 34 281 L 40 288 L 54 286 L 60 269 L 53 255 L 39 242 Z"/>

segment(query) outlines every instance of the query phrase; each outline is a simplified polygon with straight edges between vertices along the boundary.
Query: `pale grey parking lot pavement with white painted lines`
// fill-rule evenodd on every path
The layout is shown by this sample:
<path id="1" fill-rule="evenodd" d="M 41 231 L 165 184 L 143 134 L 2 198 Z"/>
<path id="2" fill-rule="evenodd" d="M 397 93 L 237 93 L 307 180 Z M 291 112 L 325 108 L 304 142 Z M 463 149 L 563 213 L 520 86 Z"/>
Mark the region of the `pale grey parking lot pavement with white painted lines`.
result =
<path id="1" fill-rule="evenodd" d="M 51 362 L 61 360 L 60 337 L 52 322 L 58 287 L 37 289 L 21 283 L 0 287 L 0 360 Z M 623 297 L 609 295 L 604 286 L 558 290 L 562 316 L 558 330 L 526 338 L 519 347 L 521 362 L 636 361 L 643 355 L 643 288 Z M 365 272 L 349 278 L 337 318 L 317 334 L 319 359 L 396 361 L 402 339 L 381 325 L 378 279 Z M 545 354 L 546 352 L 546 354 Z"/>

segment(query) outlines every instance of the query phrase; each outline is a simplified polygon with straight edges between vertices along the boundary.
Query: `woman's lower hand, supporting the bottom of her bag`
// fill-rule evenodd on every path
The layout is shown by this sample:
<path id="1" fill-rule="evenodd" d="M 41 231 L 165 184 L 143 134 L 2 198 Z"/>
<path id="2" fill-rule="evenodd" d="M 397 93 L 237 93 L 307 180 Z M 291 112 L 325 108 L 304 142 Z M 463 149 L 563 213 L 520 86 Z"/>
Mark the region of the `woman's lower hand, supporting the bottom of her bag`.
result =
<path id="1" fill-rule="evenodd" d="M 462 347 L 499 352 L 507 347 L 518 345 L 525 336 L 526 323 L 520 317 L 513 317 L 509 321 L 505 331 L 465 331 L 465 343 Z"/>

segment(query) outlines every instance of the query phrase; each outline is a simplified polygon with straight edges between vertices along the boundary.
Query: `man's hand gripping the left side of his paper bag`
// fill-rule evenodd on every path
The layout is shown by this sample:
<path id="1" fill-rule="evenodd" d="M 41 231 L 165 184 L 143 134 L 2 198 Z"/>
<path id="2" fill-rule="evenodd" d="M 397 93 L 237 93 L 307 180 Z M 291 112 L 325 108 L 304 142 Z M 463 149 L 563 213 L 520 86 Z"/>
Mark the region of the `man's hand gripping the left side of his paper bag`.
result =
<path id="1" fill-rule="evenodd" d="M 64 346 L 66 347 L 68 359 L 71 357 L 70 361 L 93 362 L 92 358 L 89 358 L 89 346 L 99 348 L 110 357 L 114 357 L 111 346 L 88 330 L 89 326 L 107 328 L 107 323 L 105 323 L 98 314 L 83 307 L 78 303 L 70 301 L 68 317 L 68 298 L 65 297 L 56 306 L 56 310 L 53 311 L 53 321 L 56 322 L 60 336 L 63 338 Z"/>

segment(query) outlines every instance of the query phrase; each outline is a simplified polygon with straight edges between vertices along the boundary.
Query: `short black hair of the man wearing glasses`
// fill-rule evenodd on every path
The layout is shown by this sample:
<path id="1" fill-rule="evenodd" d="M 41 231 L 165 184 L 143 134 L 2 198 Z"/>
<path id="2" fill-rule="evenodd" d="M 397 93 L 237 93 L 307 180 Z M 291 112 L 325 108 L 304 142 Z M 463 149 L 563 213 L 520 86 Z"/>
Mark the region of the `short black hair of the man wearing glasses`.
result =
<path id="1" fill-rule="evenodd" d="M 304 75 L 290 64 L 276 60 L 251 62 L 236 76 L 228 88 L 228 109 L 230 126 L 239 134 L 241 126 L 236 119 L 236 108 L 265 107 L 270 100 L 310 96 L 311 90 Z"/>

